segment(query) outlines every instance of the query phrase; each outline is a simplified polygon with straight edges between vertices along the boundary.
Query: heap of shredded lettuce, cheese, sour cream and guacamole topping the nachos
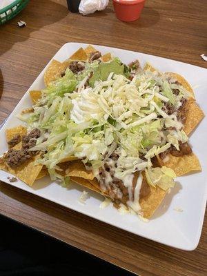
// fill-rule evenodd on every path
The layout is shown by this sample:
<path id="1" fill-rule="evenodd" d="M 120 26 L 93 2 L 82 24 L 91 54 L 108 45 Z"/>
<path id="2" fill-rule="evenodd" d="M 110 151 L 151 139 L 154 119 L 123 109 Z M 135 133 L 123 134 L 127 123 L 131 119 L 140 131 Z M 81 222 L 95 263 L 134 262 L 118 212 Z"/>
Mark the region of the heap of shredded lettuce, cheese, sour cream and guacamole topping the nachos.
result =
<path id="1" fill-rule="evenodd" d="M 188 92 L 179 86 L 179 95 L 174 95 L 168 75 L 140 70 L 130 81 L 130 73 L 118 58 L 85 63 L 79 74 L 67 69 L 64 77 L 42 90 L 34 112 L 21 115 L 29 129 L 41 130 L 31 150 L 43 152 L 39 162 L 51 179 L 68 183 L 57 166 L 70 156 L 82 159 L 98 175 L 115 152 L 115 177 L 146 170 L 150 185 L 164 190 L 174 185 L 175 175 L 164 167 L 152 168 L 151 159 L 188 141 L 176 115 L 162 109 L 166 102 L 179 107 Z"/>

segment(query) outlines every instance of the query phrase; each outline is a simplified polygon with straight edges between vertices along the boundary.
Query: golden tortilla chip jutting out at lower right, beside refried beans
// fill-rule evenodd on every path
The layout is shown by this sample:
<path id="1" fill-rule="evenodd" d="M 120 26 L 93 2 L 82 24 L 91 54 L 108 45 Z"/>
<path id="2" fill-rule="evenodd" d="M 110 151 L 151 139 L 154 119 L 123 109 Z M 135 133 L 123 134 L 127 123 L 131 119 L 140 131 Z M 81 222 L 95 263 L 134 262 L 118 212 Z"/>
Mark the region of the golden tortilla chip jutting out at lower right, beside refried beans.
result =
<path id="1" fill-rule="evenodd" d="M 166 162 L 157 157 L 159 164 L 161 166 L 166 166 L 174 170 L 177 177 L 180 177 L 181 175 L 186 175 L 189 172 L 201 171 L 201 164 L 199 162 L 199 159 L 193 152 L 190 155 L 183 155 L 181 157 L 176 157 L 170 154 L 168 156 L 169 159 Z"/>

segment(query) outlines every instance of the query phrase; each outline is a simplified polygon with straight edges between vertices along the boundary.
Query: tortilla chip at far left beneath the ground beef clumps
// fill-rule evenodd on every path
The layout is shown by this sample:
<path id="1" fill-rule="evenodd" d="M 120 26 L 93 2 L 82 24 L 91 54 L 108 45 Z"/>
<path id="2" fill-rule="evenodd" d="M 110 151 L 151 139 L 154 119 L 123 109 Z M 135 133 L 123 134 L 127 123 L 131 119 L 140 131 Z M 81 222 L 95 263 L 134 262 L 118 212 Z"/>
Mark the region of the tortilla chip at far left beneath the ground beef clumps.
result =
<path id="1" fill-rule="evenodd" d="M 21 143 L 19 144 L 21 148 Z M 19 144 L 15 146 L 16 149 L 19 147 Z M 32 186 L 34 180 L 37 179 L 37 176 L 39 175 L 39 172 L 41 171 L 41 168 L 43 166 L 41 164 L 34 165 L 39 156 L 40 155 L 36 155 L 35 157 L 28 160 L 25 164 L 22 164 L 17 168 L 10 168 L 10 166 L 8 166 L 8 164 L 6 163 L 4 157 L 1 157 L 0 169 L 9 172 L 11 175 L 14 175 L 14 177 L 17 177 L 29 186 Z"/>

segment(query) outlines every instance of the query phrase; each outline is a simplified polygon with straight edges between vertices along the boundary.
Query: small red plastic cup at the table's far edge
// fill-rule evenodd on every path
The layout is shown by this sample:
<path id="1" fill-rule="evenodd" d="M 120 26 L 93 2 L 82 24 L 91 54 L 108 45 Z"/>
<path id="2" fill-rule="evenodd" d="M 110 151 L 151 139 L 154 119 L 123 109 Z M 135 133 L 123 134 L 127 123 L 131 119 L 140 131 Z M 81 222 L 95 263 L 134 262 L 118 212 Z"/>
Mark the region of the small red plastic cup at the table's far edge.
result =
<path id="1" fill-rule="evenodd" d="M 146 0 L 113 0 L 117 19 L 125 22 L 139 18 Z"/>

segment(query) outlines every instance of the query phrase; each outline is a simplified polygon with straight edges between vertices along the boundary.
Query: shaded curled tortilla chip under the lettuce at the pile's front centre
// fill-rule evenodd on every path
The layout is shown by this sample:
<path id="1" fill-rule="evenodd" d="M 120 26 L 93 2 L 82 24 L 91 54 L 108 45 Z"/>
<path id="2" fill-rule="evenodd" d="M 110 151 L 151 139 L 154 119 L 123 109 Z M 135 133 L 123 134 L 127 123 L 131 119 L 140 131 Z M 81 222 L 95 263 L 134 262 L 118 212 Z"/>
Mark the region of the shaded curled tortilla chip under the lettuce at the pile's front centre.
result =
<path id="1" fill-rule="evenodd" d="M 81 160 L 71 161 L 66 169 L 66 176 L 68 177 L 81 177 L 84 179 L 94 179 L 91 170 L 86 170 Z"/>

